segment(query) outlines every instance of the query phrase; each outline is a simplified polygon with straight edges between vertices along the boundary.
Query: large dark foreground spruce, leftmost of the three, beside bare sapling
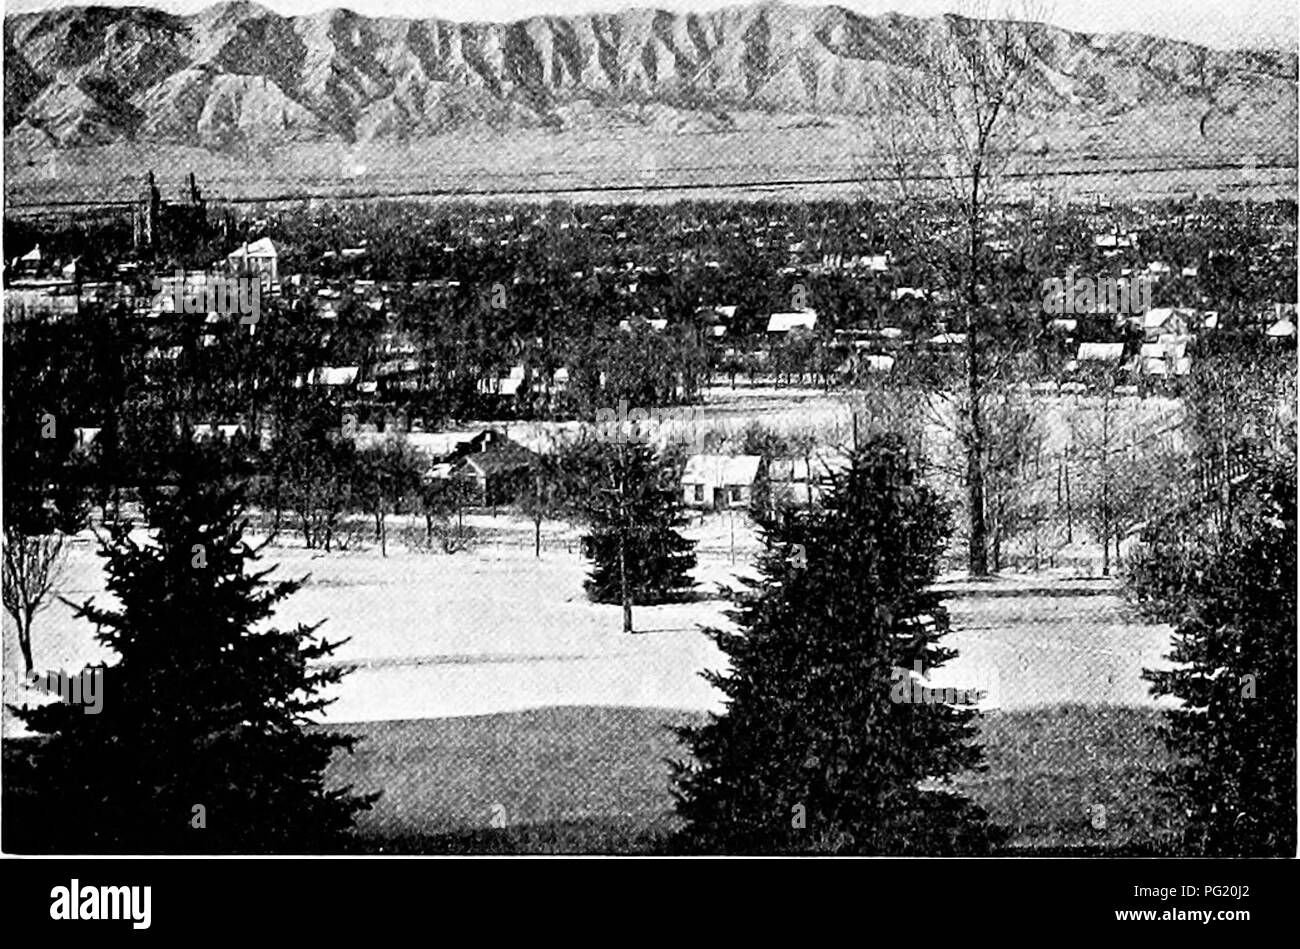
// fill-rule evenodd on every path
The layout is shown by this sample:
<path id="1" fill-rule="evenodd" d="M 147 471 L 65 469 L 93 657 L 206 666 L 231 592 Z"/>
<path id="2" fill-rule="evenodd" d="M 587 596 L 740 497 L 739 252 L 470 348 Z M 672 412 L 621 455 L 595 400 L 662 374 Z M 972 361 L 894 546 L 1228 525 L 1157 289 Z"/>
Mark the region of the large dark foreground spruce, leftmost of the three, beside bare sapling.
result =
<path id="1" fill-rule="evenodd" d="M 27 815 L 6 820 L 6 842 L 16 833 L 64 853 L 321 852 L 338 849 L 370 805 L 325 788 L 330 755 L 355 740 L 304 727 L 342 676 L 309 663 L 339 644 L 316 627 L 265 628 L 302 581 L 250 569 L 257 556 L 243 541 L 240 498 L 191 465 L 177 489 L 146 499 L 152 542 L 125 525 L 104 541 L 118 604 L 88 599 L 78 615 L 120 659 L 99 673 L 99 712 L 61 702 L 22 712 L 48 737 L 6 801 Z"/>

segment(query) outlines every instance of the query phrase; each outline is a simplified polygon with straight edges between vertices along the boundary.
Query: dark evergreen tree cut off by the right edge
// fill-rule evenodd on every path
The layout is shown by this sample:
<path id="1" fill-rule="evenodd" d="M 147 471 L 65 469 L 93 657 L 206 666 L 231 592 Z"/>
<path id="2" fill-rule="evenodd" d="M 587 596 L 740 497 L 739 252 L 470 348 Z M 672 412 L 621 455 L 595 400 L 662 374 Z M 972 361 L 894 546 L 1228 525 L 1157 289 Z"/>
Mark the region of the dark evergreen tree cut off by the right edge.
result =
<path id="1" fill-rule="evenodd" d="M 1260 463 L 1238 490 L 1243 497 L 1222 528 L 1188 511 L 1178 525 L 1187 540 L 1145 545 L 1134 558 L 1130 592 L 1148 614 L 1174 624 L 1174 667 L 1144 677 L 1154 696 L 1180 699 L 1162 736 L 1178 755 L 1165 786 L 1190 816 L 1187 848 L 1214 857 L 1292 855 L 1294 455 Z"/>

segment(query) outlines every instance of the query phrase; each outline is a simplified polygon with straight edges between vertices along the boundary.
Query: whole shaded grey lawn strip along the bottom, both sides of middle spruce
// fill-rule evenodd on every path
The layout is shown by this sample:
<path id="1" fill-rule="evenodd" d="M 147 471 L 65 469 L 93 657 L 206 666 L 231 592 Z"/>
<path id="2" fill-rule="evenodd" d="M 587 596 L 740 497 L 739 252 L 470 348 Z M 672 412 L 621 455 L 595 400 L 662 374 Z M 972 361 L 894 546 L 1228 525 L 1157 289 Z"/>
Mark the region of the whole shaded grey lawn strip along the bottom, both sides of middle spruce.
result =
<path id="1" fill-rule="evenodd" d="M 680 751 L 666 725 L 693 719 L 562 707 L 346 725 L 364 741 L 330 780 L 384 790 L 358 828 L 372 853 L 647 853 L 673 828 L 666 759 Z M 1114 706 L 992 712 L 988 771 L 963 790 L 1011 831 L 1013 854 L 1167 850 L 1179 827 L 1152 786 L 1167 763 L 1157 720 Z"/>

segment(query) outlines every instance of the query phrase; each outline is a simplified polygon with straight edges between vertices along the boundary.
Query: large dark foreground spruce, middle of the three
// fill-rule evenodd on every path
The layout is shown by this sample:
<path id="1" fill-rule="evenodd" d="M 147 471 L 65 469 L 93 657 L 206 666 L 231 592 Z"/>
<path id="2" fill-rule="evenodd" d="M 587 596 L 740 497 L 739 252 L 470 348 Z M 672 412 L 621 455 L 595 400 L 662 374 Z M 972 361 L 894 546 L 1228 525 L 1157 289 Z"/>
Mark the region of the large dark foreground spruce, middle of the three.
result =
<path id="1" fill-rule="evenodd" d="M 915 703 L 902 672 L 956 655 L 928 588 L 946 511 L 885 436 L 855 452 L 823 510 L 763 525 L 762 577 L 734 592 L 731 660 L 706 679 L 727 711 L 677 729 L 681 849 L 724 853 L 979 853 L 983 810 L 950 779 L 983 767 L 976 712 Z M 923 693 L 924 694 L 924 693 Z M 931 697 L 933 694 L 931 693 Z"/>

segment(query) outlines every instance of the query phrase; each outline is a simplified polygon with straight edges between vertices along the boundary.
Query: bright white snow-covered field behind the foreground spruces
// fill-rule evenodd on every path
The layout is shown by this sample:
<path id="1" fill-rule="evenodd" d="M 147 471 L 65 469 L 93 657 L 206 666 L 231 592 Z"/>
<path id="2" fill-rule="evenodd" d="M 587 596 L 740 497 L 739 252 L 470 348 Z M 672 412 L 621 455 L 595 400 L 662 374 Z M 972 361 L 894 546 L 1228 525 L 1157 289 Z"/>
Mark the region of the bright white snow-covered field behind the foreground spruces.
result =
<path id="1" fill-rule="evenodd" d="M 404 521 L 403 521 L 404 523 Z M 467 517 L 481 541 L 469 552 L 420 552 L 390 541 L 377 549 L 321 554 L 300 546 L 264 551 L 274 576 L 309 575 L 285 601 L 277 625 L 326 620 L 335 654 L 355 666 L 335 690 L 332 722 L 482 715 L 549 706 L 637 706 L 719 710 L 720 696 L 698 675 L 724 656 L 701 632 L 725 623 L 716 597 L 637 607 L 636 634 L 621 632 L 621 610 L 588 602 L 586 562 L 576 534 L 549 525 L 533 556 L 532 525 L 506 515 Z M 732 530 L 734 528 L 734 564 Z M 746 517 L 697 523 L 696 576 L 712 594 L 748 567 L 757 540 Z M 1148 705 L 1139 679 L 1158 666 L 1169 629 L 1127 620 L 1109 589 L 1058 578 L 1015 578 L 972 588 L 945 585 L 961 655 L 935 685 L 987 689 L 988 705 L 1019 708 L 1058 702 Z M 1017 593 L 1015 588 L 1019 586 Z M 974 594 L 972 594 L 974 590 Z M 79 541 L 60 593 L 77 602 L 103 597 L 101 560 Z M 1015 595 L 1008 595 L 1008 594 Z M 992 594 L 992 595 L 991 595 Z M 36 619 L 38 670 L 77 670 L 110 660 L 94 629 L 53 603 Z M 5 699 L 21 702 L 21 659 L 9 618 L 4 628 Z M 110 696 L 105 701 L 112 701 Z M 5 716 L 6 731 L 14 725 Z"/>

